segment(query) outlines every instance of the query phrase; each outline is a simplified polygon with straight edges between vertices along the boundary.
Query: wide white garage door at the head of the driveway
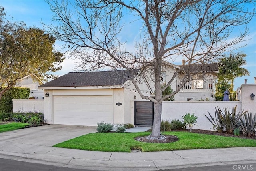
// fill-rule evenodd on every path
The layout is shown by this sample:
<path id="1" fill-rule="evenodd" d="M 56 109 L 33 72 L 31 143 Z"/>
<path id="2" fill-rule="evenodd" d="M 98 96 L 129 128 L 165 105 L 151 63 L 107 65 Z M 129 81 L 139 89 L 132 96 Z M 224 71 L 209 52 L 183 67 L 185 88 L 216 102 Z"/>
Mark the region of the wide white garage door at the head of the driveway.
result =
<path id="1" fill-rule="evenodd" d="M 54 96 L 54 123 L 96 126 L 113 122 L 112 95 Z"/>

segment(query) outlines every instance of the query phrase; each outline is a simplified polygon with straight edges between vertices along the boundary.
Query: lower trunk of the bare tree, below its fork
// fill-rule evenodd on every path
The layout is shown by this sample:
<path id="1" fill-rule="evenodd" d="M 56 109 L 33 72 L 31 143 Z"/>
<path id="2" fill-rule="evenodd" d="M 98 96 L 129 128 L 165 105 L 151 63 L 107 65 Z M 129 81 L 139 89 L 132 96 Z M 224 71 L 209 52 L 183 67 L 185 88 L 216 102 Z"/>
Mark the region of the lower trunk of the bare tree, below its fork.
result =
<path id="1" fill-rule="evenodd" d="M 153 139 L 157 139 L 161 136 L 161 114 L 162 114 L 162 103 L 154 104 L 154 121 L 153 121 L 153 129 L 150 137 Z"/>

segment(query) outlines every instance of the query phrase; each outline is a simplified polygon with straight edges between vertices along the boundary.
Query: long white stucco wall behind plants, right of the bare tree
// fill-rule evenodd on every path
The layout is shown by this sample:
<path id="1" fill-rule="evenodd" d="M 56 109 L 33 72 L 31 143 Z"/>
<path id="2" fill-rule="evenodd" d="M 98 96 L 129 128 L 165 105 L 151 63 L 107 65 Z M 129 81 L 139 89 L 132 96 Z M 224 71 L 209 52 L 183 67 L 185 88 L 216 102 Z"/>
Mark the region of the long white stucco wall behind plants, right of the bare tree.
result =
<path id="1" fill-rule="evenodd" d="M 237 111 L 242 110 L 240 101 L 164 101 L 162 103 L 162 120 L 182 120 L 182 115 L 195 113 L 198 116 L 198 126 L 194 126 L 194 129 L 212 130 L 213 126 L 204 114 L 208 116 L 209 112 L 214 117 L 215 107 L 232 109 L 235 106 L 237 106 Z"/>

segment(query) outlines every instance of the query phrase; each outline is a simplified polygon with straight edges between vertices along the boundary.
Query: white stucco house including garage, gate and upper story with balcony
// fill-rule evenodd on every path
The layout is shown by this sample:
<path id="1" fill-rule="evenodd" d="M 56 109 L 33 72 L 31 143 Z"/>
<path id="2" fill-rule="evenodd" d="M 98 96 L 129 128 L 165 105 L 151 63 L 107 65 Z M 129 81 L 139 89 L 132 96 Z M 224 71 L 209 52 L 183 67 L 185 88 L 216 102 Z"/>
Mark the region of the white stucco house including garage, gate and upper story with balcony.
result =
<path id="1" fill-rule="evenodd" d="M 162 68 L 162 84 L 166 84 L 180 66 L 167 63 Z M 198 68 L 198 66 L 196 66 Z M 194 72 L 197 72 L 195 68 Z M 212 66 L 208 72 L 214 72 Z M 206 70 L 206 68 L 203 68 Z M 214 69 L 215 70 L 215 69 Z M 200 72 L 201 73 L 201 72 Z M 198 76 L 196 81 L 188 83 L 180 93 L 187 93 L 186 98 L 202 93 L 212 93 L 214 80 L 208 82 L 210 74 Z M 145 95 L 154 97 L 154 79 L 149 76 L 138 78 L 138 86 Z M 181 72 L 179 76 L 185 74 Z M 150 77 L 151 75 L 151 77 Z M 44 89 L 44 118 L 49 124 L 96 126 L 98 122 L 132 123 L 134 125 L 152 125 L 154 105 L 141 99 L 126 70 L 101 72 L 70 72 L 39 86 Z M 173 82 L 172 89 L 179 85 L 179 76 Z M 212 79 L 215 76 L 210 77 Z M 202 80 L 202 84 L 197 84 Z M 193 79 L 194 81 L 194 79 Z M 206 85 L 207 86 L 204 86 Z M 197 94 L 196 94 L 197 93 Z M 185 101 L 181 95 L 176 95 Z M 178 99 L 179 100 L 179 99 Z"/>

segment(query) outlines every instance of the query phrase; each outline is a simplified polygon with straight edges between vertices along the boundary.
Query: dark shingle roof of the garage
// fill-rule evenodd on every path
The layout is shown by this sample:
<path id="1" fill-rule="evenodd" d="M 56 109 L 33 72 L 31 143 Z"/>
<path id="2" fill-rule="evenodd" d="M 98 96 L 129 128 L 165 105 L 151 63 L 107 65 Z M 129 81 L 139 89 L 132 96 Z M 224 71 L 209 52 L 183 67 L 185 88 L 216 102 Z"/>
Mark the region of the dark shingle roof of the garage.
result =
<path id="1" fill-rule="evenodd" d="M 128 70 L 101 72 L 69 72 L 39 87 L 79 87 L 122 85 L 130 77 Z"/>

